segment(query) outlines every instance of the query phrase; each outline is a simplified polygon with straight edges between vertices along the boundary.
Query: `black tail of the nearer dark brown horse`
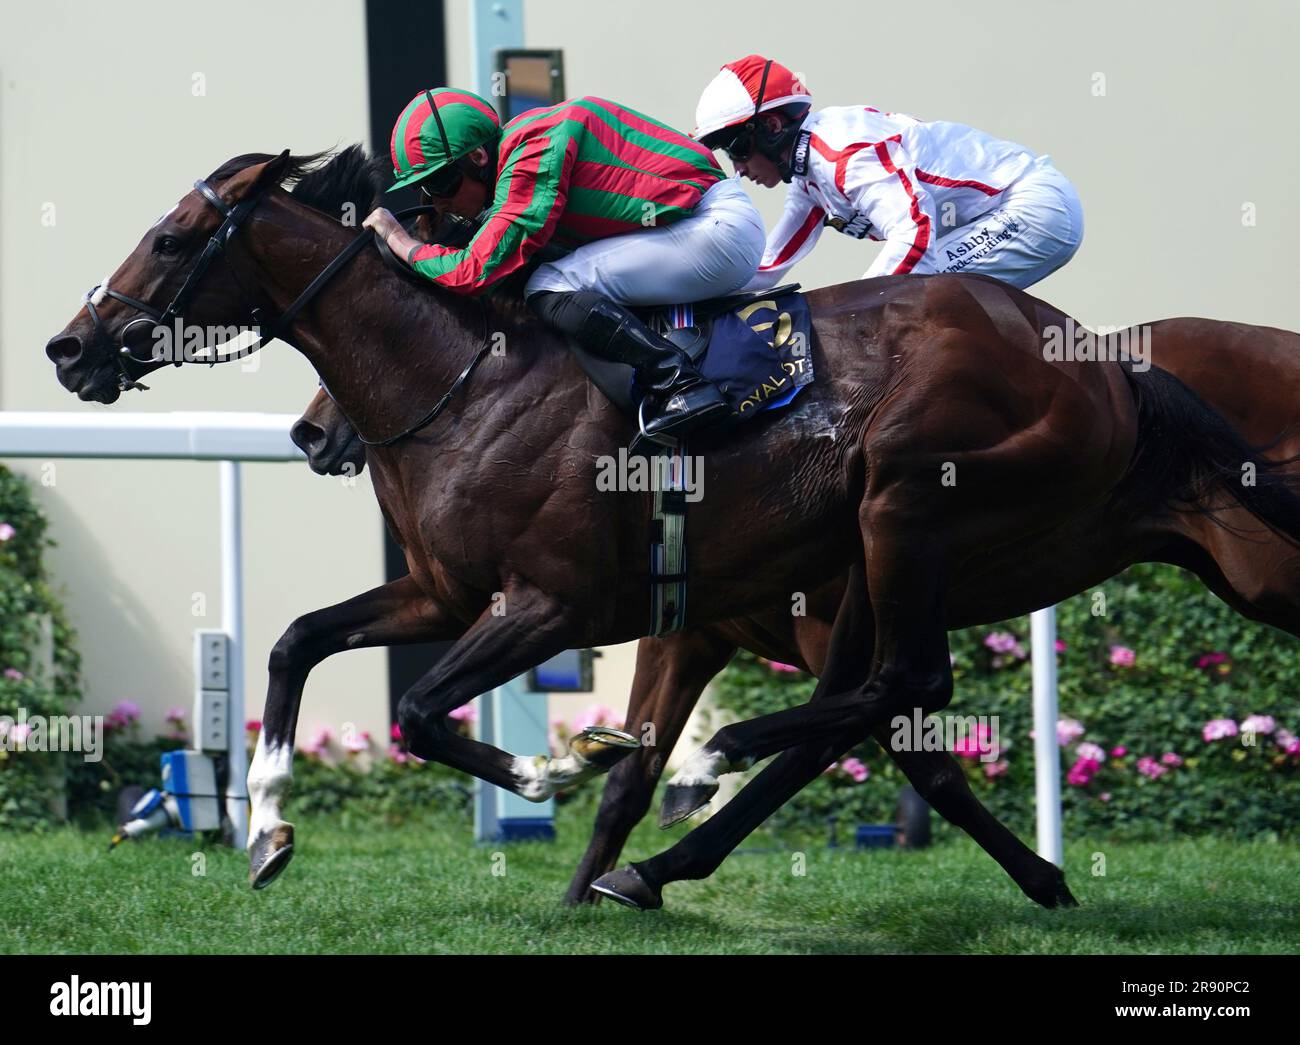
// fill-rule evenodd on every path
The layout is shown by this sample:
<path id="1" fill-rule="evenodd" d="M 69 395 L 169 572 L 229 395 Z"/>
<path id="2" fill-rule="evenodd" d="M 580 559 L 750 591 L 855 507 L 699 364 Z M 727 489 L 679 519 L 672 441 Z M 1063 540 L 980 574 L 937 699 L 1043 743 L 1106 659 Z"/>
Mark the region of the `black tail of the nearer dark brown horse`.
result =
<path id="1" fill-rule="evenodd" d="M 1138 407 L 1138 451 L 1122 484 L 1126 503 L 1197 512 L 1227 526 L 1217 512 L 1235 502 L 1300 546 L 1300 474 L 1287 472 L 1292 459 L 1265 458 L 1269 447 L 1247 442 L 1167 370 L 1126 365 L 1124 373 Z"/>

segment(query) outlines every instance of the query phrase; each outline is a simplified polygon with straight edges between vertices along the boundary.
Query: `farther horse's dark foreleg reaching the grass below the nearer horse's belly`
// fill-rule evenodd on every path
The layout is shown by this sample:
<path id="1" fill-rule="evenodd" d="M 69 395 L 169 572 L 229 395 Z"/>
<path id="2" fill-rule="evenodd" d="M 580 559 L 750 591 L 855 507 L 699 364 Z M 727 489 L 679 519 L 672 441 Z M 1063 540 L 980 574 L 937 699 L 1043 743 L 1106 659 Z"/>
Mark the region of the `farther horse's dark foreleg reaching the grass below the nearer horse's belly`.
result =
<path id="1" fill-rule="evenodd" d="M 610 772 L 592 841 L 573 872 L 566 903 L 599 898 L 592 883 L 618 864 L 628 836 L 650 808 L 663 766 L 699 694 L 734 652 L 733 643 L 707 632 L 642 638 L 637 645 L 627 728 L 641 738 L 641 746 Z"/>

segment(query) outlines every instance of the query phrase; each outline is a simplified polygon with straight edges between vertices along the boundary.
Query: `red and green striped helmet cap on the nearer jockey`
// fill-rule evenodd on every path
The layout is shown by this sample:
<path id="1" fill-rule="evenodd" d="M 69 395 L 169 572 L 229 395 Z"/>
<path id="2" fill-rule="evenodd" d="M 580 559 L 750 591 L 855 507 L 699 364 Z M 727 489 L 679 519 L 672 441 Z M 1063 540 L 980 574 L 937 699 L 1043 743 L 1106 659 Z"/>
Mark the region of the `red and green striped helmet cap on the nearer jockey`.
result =
<path id="1" fill-rule="evenodd" d="M 393 188 L 417 182 L 499 136 L 497 110 L 478 95 L 455 87 L 421 91 L 393 125 Z"/>

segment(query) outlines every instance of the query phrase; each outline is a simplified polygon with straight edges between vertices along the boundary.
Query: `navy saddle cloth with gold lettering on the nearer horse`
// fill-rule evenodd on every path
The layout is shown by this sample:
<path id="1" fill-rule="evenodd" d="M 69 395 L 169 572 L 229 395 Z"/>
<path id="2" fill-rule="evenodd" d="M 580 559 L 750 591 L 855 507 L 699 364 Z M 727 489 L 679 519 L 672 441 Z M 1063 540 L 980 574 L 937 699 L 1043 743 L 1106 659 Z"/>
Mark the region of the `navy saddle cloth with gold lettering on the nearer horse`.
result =
<path id="1" fill-rule="evenodd" d="M 798 283 L 690 305 L 633 309 L 692 357 L 732 406 L 731 422 L 780 409 L 812 382 L 811 317 Z M 670 317 L 686 315 L 689 326 Z M 582 369 L 619 409 L 634 413 L 633 370 L 569 342 Z"/>

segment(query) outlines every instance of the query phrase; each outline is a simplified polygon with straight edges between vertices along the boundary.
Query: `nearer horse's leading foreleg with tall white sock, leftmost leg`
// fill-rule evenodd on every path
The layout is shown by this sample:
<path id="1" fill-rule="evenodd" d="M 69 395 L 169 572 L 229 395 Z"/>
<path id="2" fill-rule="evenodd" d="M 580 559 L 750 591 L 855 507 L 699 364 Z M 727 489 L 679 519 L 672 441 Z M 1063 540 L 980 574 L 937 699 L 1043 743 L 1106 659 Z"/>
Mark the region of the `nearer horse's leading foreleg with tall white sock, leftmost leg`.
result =
<path id="1" fill-rule="evenodd" d="M 295 620 L 274 649 L 257 750 L 248 767 L 248 881 L 269 885 L 294 851 L 294 828 L 282 819 L 292 782 L 294 733 L 307 676 L 325 658 L 363 646 L 396 646 L 454 638 L 464 625 L 411 578 L 381 585 L 347 602 Z"/>

